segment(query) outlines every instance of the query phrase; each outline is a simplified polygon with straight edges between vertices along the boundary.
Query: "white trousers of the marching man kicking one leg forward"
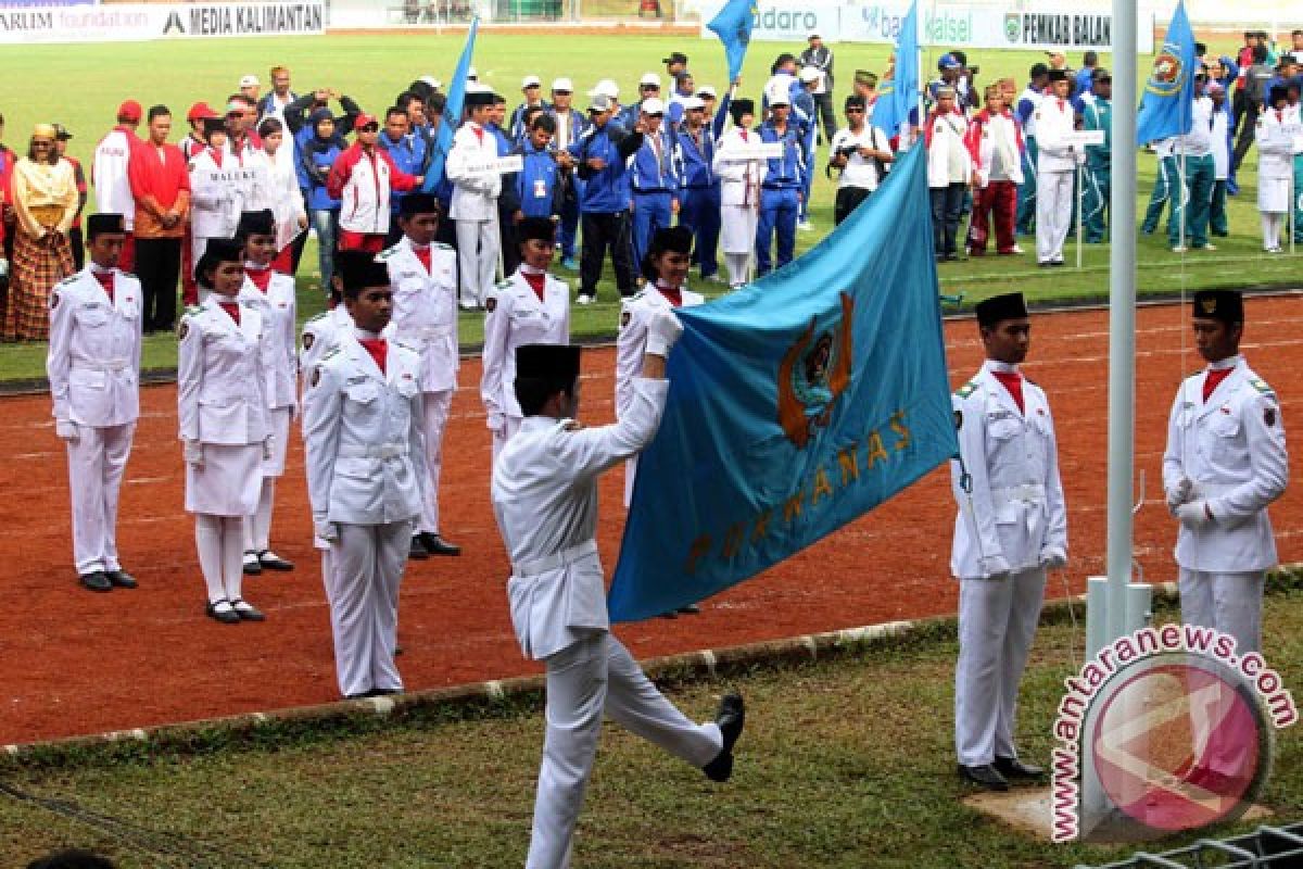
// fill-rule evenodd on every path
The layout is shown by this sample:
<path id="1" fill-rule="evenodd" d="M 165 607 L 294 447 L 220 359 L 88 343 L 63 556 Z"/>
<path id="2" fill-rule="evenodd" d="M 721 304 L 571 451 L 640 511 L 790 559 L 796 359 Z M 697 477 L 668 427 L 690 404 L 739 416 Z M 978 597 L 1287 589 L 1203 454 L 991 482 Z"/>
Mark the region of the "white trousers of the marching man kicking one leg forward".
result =
<path id="1" fill-rule="evenodd" d="M 580 640 L 545 663 L 547 735 L 525 868 L 564 869 L 569 866 L 571 836 L 584 805 L 603 711 L 692 766 L 713 761 L 723 748 L 723 736 L 715 723 L 688 720 L 610 633 Z"/>

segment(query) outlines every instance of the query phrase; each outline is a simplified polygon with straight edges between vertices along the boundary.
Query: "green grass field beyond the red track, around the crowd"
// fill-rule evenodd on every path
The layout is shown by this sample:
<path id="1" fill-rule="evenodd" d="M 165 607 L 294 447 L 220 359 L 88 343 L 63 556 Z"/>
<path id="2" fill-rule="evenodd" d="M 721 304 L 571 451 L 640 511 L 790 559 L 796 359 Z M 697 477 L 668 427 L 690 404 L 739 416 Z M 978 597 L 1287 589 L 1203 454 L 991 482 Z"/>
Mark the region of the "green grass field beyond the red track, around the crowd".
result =
<path id="1" fill-rule="evenodd" d="M 235 83 L 248 72 L 263 81 L 272 64 L 285 64 L 293 72 L 298 90 L 330 86 L 354 96 L 367 111 L 387 107 L 401 87 L 417 76 L 430 73 L 447 79 L 461 50 L 464 36 L 451 35 L 367 35 L 308 36 L 291 39 L 249 39 L 210 42 L 154 42 L 126 46 L 27 46 L 0 53 L 0 79 L 23 82 L 7 89 L 0 112 L 7 120 L 5 142 L 25 150 L 31 125 L 59 121 L 76 135 L 70 154 L 89 159 L 95 142 L 113 122 L 113 109 L 126 96 L 149 107 L 163 103 L 184 117 L 197 99 L 219 104 Z M 724 85 L 723 55 L 719 44 L 694 36 L 562 35 L 545 36 L 483 31 L 477 42 L 476 65 L 481 79 L 508 96 L 511 104 L 519 95 L 520 79 L 537 73 L 545 81 L 569 76 L 585 91 L 598 78 L 612 77 L 627 95 L 632 95 L 637 77 L 648 70 L 661 72 L 661 57 L 680 48 L 692 57 L 692 69 L 700 83 Z M 799 51 L 800 46 L 756 43 L 743 72 L 744 93 L 754 94 L 767 77 L 771 59 L 783 50 Z M 1233 43 L 1214 50 L 1229 51 Z M 855 69 L 882 70 L 887 46 L 839 44 L 838 100 L 846 93 Z M 934 69 L 941 52 L 929 50 L 924 56 L 926 69 Z M 988 51 L 972 52 L 972 63 L 982 66 L 982 79 L 1014 76 L 1023 81 L 1027 68 L 1044 55 L 1036 52 Z M 1072 60 L 1078 60 L 1072 57 Z M 1110 59 L 1105 57 L 1104 64 Z M 1148 57 L 1140 57 L 1148 69 Z M 177 121 L 176 138 L 182 126 Z M 1138 250 L 1139 289 L 1143 294 L 1171 293 L 1182 287 L 1244 287 L 1296 284 L 1299 261 L 1293 257 L 1267 257 L 1260 251 L 1256 210 L 1255 154 L 1250 154 L 1242 193 L 1229 203 L 1231 237 L 1217 240 L 1216 253 L 1192 253 L 1184 258 L 1167 250 L 1160 229 L 1154 236 L 1141 236 Z M 1138 201 L 1140 212 L 1148 202 L 1153 184 L 1153 158 L 1141 154 Z M 1117 181 L 1115 181 L 1117 182 Z M 94 208 L 94 199 L 91 201 Z M 813 232 L 797 233 L 797 254 L 816 244 L 831 228 L 833 184 L 818 173 L 813 192 Z M 1031 250 L 1031 244 L 1024 249 Z M 1074 262 L 1074 251 L 1067 251 Z M 1010 285 L 1018 285 L 1029 297 L 1041 301 L 1100 298 L 1108 292 L 1108 246 L 1089 245 L 1084 268 L 1036 268 L 1035 257 L 986 258 L 941 266 L 942 291 L 963 293 L 964 306 Z M 300 314 L 309 317 L 322 306 L 319 276 L 315 274 L 315 249 L 310 245 L 300 271 Z M 572 283 L 573 274 L 558 270 Z M 607 278 L 599 287 L 599 304 L 575 307 L 572 332 L 576 339 L 610 336 L 619 317 L 614 281 Z M 704 285 L 708 291 L 715 285 Z M 482 317 L 463 314 L 461 339 L 468 345 L 482 337 Z M 171 367 L 176 361 L 175 340 L 158 335 L 146 341 L 146 367 Z M 44 345 L 0 347 L 0 380 L 40 377 L 44 370 Z"/>

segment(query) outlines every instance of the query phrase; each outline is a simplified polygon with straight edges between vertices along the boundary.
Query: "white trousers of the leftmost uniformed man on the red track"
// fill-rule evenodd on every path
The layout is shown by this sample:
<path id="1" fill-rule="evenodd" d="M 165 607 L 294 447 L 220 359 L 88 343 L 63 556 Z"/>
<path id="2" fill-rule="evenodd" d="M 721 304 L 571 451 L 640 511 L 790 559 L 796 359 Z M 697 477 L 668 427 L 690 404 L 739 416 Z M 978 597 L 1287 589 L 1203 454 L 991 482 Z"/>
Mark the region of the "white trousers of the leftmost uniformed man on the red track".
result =
<path id="1" fill-rule="evenodd" d="M 73 560 L 78 575 L 117 571 L 117 495 L 136 423 L 77 426 L 77 443 L 68 443 Z"/>

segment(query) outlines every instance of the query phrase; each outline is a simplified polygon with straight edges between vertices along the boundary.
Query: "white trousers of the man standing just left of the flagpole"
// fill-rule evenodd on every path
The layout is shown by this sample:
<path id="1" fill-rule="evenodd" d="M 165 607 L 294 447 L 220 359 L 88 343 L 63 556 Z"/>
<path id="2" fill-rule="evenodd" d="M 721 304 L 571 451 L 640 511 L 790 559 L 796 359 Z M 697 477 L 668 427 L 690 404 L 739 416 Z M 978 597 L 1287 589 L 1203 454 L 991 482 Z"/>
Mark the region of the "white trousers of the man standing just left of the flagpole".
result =
<path id="1" fill-rule="evenodd" d="M 1018 683 L 1044 598 L 1042 568 L 1006 580 L 959 581 L 955 750 L 964 766 L 1018 757 Z"/>

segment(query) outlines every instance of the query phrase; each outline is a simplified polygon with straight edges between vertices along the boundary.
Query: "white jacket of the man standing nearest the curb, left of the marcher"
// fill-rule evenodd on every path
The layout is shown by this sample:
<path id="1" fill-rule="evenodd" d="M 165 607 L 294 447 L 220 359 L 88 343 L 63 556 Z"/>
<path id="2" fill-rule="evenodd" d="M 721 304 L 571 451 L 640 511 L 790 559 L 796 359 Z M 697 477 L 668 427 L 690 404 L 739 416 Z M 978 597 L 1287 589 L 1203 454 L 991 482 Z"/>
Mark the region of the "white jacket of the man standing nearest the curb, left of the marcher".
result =
<path id="1" fill-rule="evenodd" d="M 388 343 L 386 373 L 353 332 L 313 369 L 304 400 L 313 521 L 387 525 L 421 513 L 421 357 Z"/>

